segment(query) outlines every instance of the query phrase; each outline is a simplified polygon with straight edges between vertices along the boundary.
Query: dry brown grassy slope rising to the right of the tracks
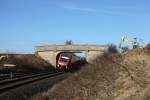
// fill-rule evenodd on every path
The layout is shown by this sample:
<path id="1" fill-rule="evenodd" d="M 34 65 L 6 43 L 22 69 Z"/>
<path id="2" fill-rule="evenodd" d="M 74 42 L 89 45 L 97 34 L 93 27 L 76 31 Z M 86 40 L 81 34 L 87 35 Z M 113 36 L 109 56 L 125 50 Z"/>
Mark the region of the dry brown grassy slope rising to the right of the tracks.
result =
<path id="1" fill-rule="evenodd" d="M 105 54 L 35 99 L 148 100 L 149 61 L 150 47 L 122 55 Z"/>

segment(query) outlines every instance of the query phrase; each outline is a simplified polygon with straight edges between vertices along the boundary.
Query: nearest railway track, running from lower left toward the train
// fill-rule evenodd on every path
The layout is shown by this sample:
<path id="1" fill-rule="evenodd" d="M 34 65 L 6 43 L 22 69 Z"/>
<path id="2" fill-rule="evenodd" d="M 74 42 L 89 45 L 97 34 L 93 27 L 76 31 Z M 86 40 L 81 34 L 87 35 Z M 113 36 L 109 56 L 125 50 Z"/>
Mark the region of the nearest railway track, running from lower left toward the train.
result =
<path id="1" fill-rule="evenodd" d="M 62 72 L 59 73 L 42 73 L 42 74 L 36 74 L 36 75 L 31 75 L 31 76 L 25 76 L 21 78 L 16 78 L 12 80 L 4 80 L 0 81 L 0 94 L 7 92 L 11 89 L 15 89 L 17 87 L 21 87 L 36 81 L 40 81 L 42 79 L 54 77 L 57 75 L 63 74 Z"/>

